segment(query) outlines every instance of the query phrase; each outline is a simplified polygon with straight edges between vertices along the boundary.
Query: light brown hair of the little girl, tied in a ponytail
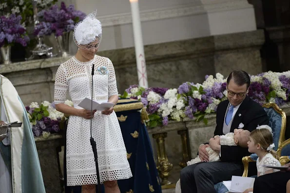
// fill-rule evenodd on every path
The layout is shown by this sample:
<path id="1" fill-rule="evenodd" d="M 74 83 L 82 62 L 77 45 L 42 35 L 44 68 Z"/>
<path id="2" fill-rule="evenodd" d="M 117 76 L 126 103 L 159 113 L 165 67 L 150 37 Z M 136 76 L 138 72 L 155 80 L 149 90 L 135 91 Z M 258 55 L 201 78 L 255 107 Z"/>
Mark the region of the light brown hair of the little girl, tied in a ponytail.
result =
<path id="1" fill-rule="evenodd" d="M 260 144 L 262 149 L 267 151 L 267 148 L 273 143 L 273 134 L 269 129 L 255 129 L 250 134 L 253 139 L 255 145 Z M 279 156 L 274 150 L 269 151 L 276 159 L 279 160 Z"/>

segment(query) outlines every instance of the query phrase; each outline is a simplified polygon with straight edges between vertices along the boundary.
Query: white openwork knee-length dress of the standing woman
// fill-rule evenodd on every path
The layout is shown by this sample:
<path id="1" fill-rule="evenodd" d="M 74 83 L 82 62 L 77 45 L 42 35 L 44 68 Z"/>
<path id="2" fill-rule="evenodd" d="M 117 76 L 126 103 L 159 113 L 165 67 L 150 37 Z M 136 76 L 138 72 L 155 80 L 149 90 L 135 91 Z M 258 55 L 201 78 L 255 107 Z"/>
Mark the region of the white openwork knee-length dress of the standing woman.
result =
<path id="1" fill-rule="evenodd" d="M 115 70 L 109 58 L 96 55 L 89 62 L 80 62 L 73 57 L 58 68 L 55 104 L 64 103 L 68 90 L 74 107 L 81 109 L 77 105 L 85 97 L 91 98 L 93 63 L 93 99 L 107 102 L 109 97 L 118 94 Z M 100 181 L 132 177 L 116 113 L 107 116 L 97 111 L 93 118 L 92 135 L 97 143 Z M 70 116 L 66 136 L 67 185 L 97 184 L 96 165 L 90 144 L 90 119 Z"/>

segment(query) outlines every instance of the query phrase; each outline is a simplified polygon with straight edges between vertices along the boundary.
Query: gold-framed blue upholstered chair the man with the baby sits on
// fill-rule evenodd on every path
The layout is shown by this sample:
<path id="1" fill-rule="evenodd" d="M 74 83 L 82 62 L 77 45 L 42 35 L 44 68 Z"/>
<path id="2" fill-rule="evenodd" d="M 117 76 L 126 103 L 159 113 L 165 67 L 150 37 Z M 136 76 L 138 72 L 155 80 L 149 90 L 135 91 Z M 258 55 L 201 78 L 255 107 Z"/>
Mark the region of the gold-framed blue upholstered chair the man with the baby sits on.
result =
<path id="1" fill-rule="evenodd" d="M 276 103 L 264 104 L 263 108 L 269 116 L 269 126 L 272 128 L 275 144 L 274 150 L 277 150 L 278 147 L 280 147 L 280 145 L 285 141 L 286 114 L 278 107 Z M 255 162 L 257 158 L 257 154 L 251 154 L 250 156 L 243 157 L 242 161 L 244 164 L 244 177 L 248 176 L 249 162 Z"/>

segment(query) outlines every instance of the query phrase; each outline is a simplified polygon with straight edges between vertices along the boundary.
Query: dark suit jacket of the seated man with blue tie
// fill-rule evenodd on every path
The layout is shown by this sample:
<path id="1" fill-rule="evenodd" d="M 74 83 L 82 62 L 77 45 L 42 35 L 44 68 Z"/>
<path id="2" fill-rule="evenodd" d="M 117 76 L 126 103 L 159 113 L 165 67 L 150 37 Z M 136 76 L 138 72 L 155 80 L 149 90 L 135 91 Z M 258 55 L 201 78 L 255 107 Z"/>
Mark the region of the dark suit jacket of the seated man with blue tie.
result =
<path id="1" fill-rule="evenodd" d="M 219 103 L 217 106 L 216 127 L 214 135 L 224 135 L 223 126 L 228 104 L 229 100 L 225 100 Z M 241 114 L 241 116 L 239 116 L 239 114 Z M 232 120 L 230 132 L 233 132 L 234 129 L 237 129 L 240 123 L 244 124 L 243 129 L 249 130 L 251 132 L 256 129 L 258 125 L 269 125 L 269 117 L 261 105 L 247 96 L 240 105 Z M 227 162 L 241 162 L 244 156 L 250 154 L 251 153 L 248 152 L 248 148 L 222 145 L 220 159 L 221 161 Z"/>

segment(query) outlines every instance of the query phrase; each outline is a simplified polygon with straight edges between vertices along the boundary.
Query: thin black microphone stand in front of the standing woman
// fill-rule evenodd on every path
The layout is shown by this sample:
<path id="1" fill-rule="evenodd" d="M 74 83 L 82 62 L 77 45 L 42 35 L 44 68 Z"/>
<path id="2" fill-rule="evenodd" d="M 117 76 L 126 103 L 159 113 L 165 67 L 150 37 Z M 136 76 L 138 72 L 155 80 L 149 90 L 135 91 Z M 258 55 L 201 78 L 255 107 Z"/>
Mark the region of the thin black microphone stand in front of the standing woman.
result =
<path id="1" fill-rule="evenodd" d="M 91 103 L 91 138 L 90 138 L 90 142 L 91 142 L 91 146 L 92 146 L 92 149 L 93 149 L 93 153 L 94 153 L 94 157 L 95 157 L 95 162 L 96 162 L 96 171 L 97 171 L 97 193 L 101 193 L 101 189 L 100 189 L 100 185 L 101 185 L 101 182 L 100 182 L 100 174 L 99 174 L 99 171 L 98 171 L 98 162 L 97 162 L 97 145 L 96 145 L 96 141 L 95 139 L 93 138 L 92 136 L 92 119 L 93 119 L 93 83 L 94 83 L 94 76 L 95 74 L 95 64 L 93 64 L 93 67 L 92 67 L 92 103 Z"/>

